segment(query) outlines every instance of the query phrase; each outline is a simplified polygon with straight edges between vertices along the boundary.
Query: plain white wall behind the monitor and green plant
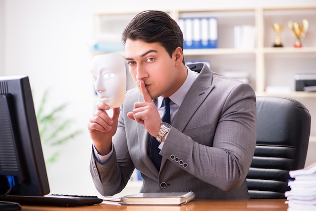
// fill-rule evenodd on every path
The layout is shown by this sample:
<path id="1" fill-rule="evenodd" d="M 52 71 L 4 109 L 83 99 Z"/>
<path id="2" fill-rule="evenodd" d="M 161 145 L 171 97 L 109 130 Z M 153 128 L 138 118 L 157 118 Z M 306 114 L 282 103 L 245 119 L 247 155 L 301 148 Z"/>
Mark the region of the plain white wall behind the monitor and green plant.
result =
<path id="1" fill-rule="evenodd" d="M 75 127 L 84 131 L 65 145 L 60 161 L 48 169 L 51 193 L 95 194 L 89 173 L 91 141 L 86 129 L 93 110 L 93 84 L 88 70 L 92 57 L 88 45 L 92 13 L 200 8 L 204 2 L 161 0 L 150 4 L 134 0 L 109 4 L 102 0 L 0 0 L 0 75 L 29 75 L 35 105 L 43 91 L 51 87 L 51 107 L 68 102 L 65 116 L 74 118 Z M 293 6 L 315 5 L 315 2 L 212 0 L 207 5 Z"/>

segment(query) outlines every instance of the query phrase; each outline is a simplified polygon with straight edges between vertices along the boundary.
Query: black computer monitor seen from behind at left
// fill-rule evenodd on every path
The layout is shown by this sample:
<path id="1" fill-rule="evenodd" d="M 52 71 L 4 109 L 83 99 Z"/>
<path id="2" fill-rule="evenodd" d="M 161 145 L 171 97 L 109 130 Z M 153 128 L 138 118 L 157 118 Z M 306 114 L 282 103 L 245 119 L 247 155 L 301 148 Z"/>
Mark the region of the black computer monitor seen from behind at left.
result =
<path id="1" fill-rule="evenodd" d="M 0 196 L 8 190 L 22 196 L 50 191 L 28 76 L 0 77 Z"/>

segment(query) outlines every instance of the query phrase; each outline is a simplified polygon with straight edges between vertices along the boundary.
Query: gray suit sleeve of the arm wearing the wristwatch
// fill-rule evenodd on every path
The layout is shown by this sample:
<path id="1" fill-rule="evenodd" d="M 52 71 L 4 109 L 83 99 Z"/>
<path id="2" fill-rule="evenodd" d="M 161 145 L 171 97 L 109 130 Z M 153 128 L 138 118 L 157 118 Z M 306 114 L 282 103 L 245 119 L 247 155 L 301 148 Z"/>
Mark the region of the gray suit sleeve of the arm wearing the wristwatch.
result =
<path id="1" fill-rule="evenodd" d="M 187 164 L 181 168 L 191 175 L 231 191 L 244 182 L 254 153 L 255 94 L 248 84 L 239 84 L 226 94 L 212 92 L 192 120 L 203 124 L 184 131 L 172 128 L 161 155 L 174 163 L 172 155 L 179 157 Z"/>

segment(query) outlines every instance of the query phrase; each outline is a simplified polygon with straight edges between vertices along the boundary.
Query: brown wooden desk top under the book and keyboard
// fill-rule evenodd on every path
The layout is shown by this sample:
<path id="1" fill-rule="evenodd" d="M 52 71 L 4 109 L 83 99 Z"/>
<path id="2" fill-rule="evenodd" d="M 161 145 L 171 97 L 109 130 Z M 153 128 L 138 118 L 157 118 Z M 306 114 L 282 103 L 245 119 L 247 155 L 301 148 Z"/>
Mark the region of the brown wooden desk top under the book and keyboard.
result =
<path id="1" fill-rule="evenodd" d="M 286 211 L 288 205 L 284 203 L 285 199 L 250 199 L 250 200 L 193 200 L 185 205 L 117 205 L 117 204 L 97 204 L 92 206 L 80 207 L 45 207 L 45 206 L 22 206 L 22 210 L 40 210 L 40 211 L 61 211 L 61 210 L 104 210 L 104 211 L 188 211 L 188 210 L 217 210 L 217 211 Z"/>

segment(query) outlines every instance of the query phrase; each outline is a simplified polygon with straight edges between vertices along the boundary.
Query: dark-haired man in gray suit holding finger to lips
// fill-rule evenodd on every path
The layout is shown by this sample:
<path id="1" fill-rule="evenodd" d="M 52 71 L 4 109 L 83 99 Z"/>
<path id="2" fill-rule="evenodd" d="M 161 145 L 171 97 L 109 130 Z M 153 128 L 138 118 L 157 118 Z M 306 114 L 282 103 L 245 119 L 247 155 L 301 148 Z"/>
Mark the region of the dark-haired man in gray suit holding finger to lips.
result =
<path id="1" fill-rule="evenodd" d="M 119 193 L 137 169 L 141 192 L 249 198 L 245 178 L 256 141 L 251 86 L 203 63 L 186 66 L 182 32 L 164 12 L 136 15 L 122 41 L 137 88 L 113 116 L 100 103 L 89 120 L 90 172 L 99 193 Z"/>

